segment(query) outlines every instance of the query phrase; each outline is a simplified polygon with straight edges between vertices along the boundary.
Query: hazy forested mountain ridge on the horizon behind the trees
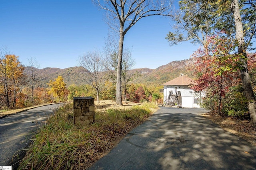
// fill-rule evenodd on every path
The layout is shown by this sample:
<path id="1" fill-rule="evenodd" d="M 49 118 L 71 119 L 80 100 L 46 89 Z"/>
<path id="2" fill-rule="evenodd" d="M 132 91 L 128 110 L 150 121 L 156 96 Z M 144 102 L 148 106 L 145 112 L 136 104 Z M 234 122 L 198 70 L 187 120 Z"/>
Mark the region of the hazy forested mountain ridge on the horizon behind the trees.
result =
<path id="1" fill-rule="evenodd" d="M 187 59 L 182 61 L 172 61 L 171 63 L 160 66 L 156 69 L 133 69 L 130 70 L 130 72 L 138 72 L 140 73 L 140 76 L 134 78 L 131 83 L 158 85 L 172 80 L 173 78 L 176 78 L 180 75 L 180 73 L 192 77 L 192 74 L 187 70 L 187 68 L 191 65 L 192 59 Z M 30 67 L 26 67 L 26 72 L 28 72 L 30 69 Z M 50 82 L 50 80 L 54 80 L 58 76 L 62 76 L 64 78 L 64 82 L 67 84 L 67 86 L 70 86 L 71 84 L 82 84 L 82 82 L 80 82 L 77 78 L 77 67 L 70 67 L 64 69 L 47 67 L 42 69 L 34 68 L 34 70 L 36 75 L 40 77 L 40 84 L 42 84 L 43 87 L 47 87 L 47 83 Z"/>

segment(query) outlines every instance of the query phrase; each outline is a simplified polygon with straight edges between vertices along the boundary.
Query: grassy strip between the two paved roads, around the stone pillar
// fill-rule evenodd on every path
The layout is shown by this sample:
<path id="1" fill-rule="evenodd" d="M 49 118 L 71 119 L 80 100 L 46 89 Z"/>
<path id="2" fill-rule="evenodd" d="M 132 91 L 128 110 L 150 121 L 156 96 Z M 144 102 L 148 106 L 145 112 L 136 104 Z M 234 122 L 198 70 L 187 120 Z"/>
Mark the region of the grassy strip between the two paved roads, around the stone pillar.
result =
<path id="1" fill-rule="evenodd" d="M 67 104 L 39 130 L 20 168 L 28 165 L 37 170 L 88 168 L 157 108 L 154 103 L 144 103 L 128 109 L 102 109 L 95 112 L 95 123 L 81 126 L 73 125 L 72 104 Z"/>

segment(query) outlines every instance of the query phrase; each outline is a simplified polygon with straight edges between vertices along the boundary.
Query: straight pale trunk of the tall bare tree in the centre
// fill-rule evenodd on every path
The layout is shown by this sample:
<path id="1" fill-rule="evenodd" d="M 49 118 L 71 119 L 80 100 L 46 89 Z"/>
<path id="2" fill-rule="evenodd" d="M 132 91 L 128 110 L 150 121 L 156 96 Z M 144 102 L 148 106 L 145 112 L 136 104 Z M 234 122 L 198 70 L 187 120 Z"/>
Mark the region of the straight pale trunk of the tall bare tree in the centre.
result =
<path id="1" fill-rule="evenodd" d="M 124 26 L 120 24 L 120 38 L 118 48 L 118 63 L 117 63 L 117 75 L 116 75 L 116 104 L 122 106 L 122 57 L 123 57 L 123 45 L 124 45 Z"/>

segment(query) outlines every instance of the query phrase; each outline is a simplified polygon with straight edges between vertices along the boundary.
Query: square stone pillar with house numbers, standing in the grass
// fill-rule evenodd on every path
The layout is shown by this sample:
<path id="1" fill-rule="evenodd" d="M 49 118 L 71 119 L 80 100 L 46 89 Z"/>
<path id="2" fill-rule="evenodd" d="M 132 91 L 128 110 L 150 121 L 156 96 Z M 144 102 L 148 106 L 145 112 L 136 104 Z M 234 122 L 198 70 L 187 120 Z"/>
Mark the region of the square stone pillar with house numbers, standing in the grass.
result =
<path id="1" fill-rule="evenodd" d="M 74 97 L 74 124 L 81 123 L 88 125 L 94 122 L 94 98 L 92 97 Z"/>

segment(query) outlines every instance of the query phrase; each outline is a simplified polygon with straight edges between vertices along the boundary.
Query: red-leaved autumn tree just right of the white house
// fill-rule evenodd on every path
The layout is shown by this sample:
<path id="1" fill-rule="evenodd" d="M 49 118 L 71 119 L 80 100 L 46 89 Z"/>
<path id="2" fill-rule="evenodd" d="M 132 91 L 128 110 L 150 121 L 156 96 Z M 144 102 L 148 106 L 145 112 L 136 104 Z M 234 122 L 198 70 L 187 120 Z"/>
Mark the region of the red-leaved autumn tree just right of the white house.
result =
<path id="1" fill-rule="evenodd" d="M 198 49 L 192 56 L 195 66 L 197 91 L 206 90 L 212 96 L 218 95 L 218 114 L 221 110 L 222 97 L 231 86 L 237 85 L 239 56 L 232 53 L 236 45 L 220 33 L 206 39 L 203 49 Z"/>

